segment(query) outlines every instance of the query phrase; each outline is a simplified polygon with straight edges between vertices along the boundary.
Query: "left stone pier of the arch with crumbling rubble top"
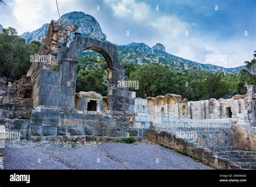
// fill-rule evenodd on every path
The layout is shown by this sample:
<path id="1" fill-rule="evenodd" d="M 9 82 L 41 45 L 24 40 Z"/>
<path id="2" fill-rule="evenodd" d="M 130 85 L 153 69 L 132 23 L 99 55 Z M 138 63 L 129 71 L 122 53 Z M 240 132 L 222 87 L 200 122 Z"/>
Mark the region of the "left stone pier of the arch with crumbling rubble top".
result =
<path id="1" fill-rule="evenodd" d="M 60 62 L 68 51 L 66 42 L 69 35 L 77 28 L 77 25 L 51 21 L 37 53 L 49 55 L 51 61 L 33 62 L 27 74 L 33 84 L 33 107 L 43 104 L 69 107 L 69 102 L 70 106 L 75 103 L 76 64 L 63 62 L 60 66 Z"/>

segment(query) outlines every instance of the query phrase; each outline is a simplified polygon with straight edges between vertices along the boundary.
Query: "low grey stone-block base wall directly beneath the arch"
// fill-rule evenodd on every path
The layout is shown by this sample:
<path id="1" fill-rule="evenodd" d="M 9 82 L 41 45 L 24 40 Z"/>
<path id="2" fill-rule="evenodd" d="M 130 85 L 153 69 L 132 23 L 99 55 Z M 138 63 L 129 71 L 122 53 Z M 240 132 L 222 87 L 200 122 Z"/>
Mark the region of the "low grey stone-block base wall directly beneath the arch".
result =
<path id="1" fill-rule="evenodd" d="M 122 116 L 101 112 L 79 112 L 63 107 L 37 106 L 31 114 L 29 136 L 41 135 L 86 135 L 142 137 L 143 130 L 132 128 L 125 114 Z"/>

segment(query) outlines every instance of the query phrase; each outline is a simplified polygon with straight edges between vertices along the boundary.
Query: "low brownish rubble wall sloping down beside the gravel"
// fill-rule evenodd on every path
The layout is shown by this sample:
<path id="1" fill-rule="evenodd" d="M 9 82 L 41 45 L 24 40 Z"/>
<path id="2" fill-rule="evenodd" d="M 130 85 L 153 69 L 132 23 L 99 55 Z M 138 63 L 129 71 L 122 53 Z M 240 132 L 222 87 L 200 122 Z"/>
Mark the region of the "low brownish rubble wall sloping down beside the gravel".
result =
<path id="1" fill-rule="evenodd" d="M 233 164 L 230 160 L 214 155 L 210 149 L 195 147 L 192 143 L 177 138 L 176 135 L 170 132 L 157 131 L 151 128 L 147 133 L 147 138 L 161 146 L 169 147 L 194 159 L 198 159 L 216 169 L 241 169 L 241 167 Z"/>

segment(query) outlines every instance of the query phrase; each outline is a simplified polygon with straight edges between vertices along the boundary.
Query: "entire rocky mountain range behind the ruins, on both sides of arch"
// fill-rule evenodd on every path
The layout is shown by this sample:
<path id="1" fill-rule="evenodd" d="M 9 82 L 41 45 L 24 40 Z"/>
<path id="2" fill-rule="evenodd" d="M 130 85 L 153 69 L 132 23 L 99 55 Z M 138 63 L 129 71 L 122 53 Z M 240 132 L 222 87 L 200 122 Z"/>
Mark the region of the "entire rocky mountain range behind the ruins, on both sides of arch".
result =
<path id="1" fill-rule="evenodd" d="M 84 12 L 70 12 L 60 17 L 62 23 L 77 24 L 76 32 L 90 38 L 95 38 L 102 41 L 107 41 L 106 35 L 102 32 L 99 23 L 91 15 L 86 15 Z M 25 32 L 21 35 L 26 39 L 26 42 L 33 40 L 41 41 L 45 37 L 49 24 L 44 24 L 41 28 L 33 32 Z M 73 35 L 69 38 L 68 45 L 71 42 Z M 109 41 L 107 41 L 109 42 Z M 206 69 L 212 72 L 224 72 L 226 74 L 237 74 L 243 66 L 237 68 L 224 68 L 212 64 L 203 64 L 181 57 L 169 54 L 165 51 L 163 44 L 156 44 L 152 47 L 144 43 L 132 42 L 128 45 L 118 46 L 119 60 L 124 62 L 132 62 L 136 64 L 160 63 L 168 64 L 170 68 L 179 70 Z M 83 53 L 86 55 L 95 55 L 95 53 Z"/>

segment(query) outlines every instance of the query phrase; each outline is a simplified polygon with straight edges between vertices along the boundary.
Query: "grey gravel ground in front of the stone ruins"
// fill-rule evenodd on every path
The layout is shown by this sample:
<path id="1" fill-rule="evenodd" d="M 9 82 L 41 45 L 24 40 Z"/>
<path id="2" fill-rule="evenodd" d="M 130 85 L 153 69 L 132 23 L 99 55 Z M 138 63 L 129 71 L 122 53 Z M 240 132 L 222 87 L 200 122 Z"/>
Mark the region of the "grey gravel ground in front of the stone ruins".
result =
<path id="1" fill-rule="evenodd" d="M 212 169 L 151 142 L 35 145 L 5 142 L 4 169 Z"/>

